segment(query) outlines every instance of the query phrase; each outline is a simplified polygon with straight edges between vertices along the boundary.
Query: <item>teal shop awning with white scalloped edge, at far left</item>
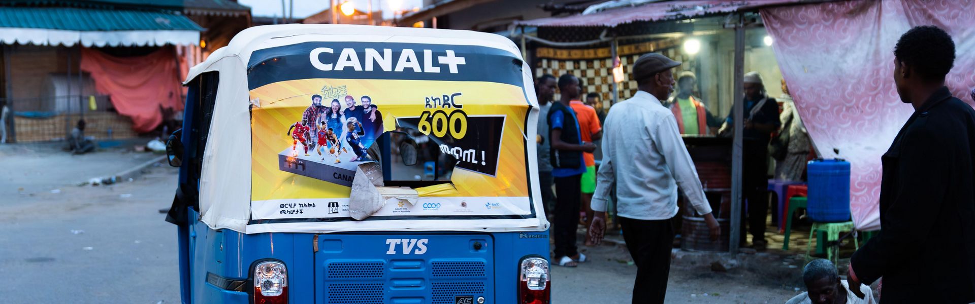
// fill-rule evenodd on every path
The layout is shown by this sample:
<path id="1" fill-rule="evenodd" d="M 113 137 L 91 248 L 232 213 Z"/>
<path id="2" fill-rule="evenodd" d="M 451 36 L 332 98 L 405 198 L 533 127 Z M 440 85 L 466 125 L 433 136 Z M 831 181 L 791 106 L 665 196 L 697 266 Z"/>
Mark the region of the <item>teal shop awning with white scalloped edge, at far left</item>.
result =
<path id="1" fill-rule="evenodd" d="M 197 45 L 203 30 L 167 10 L 0 7 L 0 41 L 43 46 Z"/>

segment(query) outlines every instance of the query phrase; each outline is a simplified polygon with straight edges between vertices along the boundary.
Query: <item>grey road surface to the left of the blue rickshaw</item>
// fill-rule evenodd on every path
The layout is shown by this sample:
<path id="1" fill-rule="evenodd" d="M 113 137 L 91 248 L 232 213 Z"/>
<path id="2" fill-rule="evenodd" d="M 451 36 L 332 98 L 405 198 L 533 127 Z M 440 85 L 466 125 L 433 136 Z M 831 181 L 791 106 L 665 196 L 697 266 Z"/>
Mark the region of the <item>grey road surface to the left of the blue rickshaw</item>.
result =
<path id="1" fill-rule="evenodd" d="M 159 213 L 174 189 L 176 171 L 157 168 L 131 183 L 6 196 L 4 301 L 177 303 L 176 226 Z"/>

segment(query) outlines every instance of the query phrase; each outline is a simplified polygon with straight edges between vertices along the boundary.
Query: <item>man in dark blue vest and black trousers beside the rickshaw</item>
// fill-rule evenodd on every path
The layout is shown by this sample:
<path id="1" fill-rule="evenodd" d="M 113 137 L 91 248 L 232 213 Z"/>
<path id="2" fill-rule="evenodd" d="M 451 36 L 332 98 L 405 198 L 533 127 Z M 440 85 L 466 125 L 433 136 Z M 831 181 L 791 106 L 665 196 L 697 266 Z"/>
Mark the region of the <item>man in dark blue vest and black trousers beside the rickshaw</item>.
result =
<path id="1" fill-rule="evenodd" d="M 592 153 L 596 145 L 582 141 L 579 124 L 571 102 L 580 94 L 579 79 L 572 74 L 559 77 L 558 102 L 549 109 L 549 158 L 555 179 L 556 205 L 552 233 L 555 237 L 555 257 L 560 266 L 575 267 L 586 261 L 586 255 L 575 246 L 575 228 L 579 222 L 579 195 L 586 163 L 582 153 Z"/>

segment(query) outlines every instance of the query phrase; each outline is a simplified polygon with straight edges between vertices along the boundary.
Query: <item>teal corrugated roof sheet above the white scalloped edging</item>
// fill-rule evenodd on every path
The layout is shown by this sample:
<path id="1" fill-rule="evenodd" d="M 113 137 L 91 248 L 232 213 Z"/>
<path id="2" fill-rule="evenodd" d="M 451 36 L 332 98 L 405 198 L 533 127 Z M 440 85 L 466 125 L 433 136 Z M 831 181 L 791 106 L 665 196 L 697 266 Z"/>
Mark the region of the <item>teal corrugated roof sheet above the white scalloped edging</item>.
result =
<path id="1" fill-rule="evenodd" d="M 166 11 L 52 7 L 0 7 L 0 27 L 77 31 L 203 30 L 185 16 Z"/>

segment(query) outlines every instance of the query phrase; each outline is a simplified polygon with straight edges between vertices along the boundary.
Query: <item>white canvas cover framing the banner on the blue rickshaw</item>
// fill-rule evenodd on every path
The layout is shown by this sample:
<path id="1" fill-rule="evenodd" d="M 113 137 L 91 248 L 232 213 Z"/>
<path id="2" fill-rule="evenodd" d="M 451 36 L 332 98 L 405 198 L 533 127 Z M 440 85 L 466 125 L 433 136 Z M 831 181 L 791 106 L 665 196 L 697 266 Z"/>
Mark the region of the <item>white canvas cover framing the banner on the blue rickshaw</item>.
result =
<path id="1" fill-rule="evenodd" d="M 489 33 L 429 28 L 384 27 L 339 24 L 284 24 L 248 28 L 204 62 L 192 67 L 184 83 L 202 73 L 218 71 L 219 83 L 213 120 L 203 160 L 200 180 L 200 212 L 212 229 L 231 229 L 244 233 L 260 232 L 349 232 L 349 231 L 544 231 L 545 219 L 540 199 L 530 200 L 532 217 L 503 219 L 404 219 L 382 221 L 323 221 L 291 223 L 281 226 L 255 225 L 252 221 L 252 121 L 249 111 L 248 64 L 255 51 L 306 42 L 412 43 L 449 46 L 475 46 L 510 53 L 521 59 L 521 52 L 508 39 Z M 337 52 L 335 53 L 337 55 Z M 422 56 L 422 54 L 419 54 Z M 307 55 L 305 55 L 307 58 Z M 395 62 L 395 61 L 394 61 Z M 446 66 L 446 65 L 445 65 Z M 444 68 L 445 71 L 447 68 Z M 537 184 L 536 151 L 533 144 L 538 116 L 537 101 L 529 67 L 521 73 L 526 108 L 525 165 L 530 197 L 540 198 Z M 529 106 L 529 107 L 528 107 Z M 532 138 L 532 140 L 527 140 Z M 289 143 L 291 139 L 289 138 Z M 388 204 L 388 203 L 387 203 Z M 466 207 L 466 205 L 465 205 Z M 250 223 L 250 224 L 249 224 Z"/>

